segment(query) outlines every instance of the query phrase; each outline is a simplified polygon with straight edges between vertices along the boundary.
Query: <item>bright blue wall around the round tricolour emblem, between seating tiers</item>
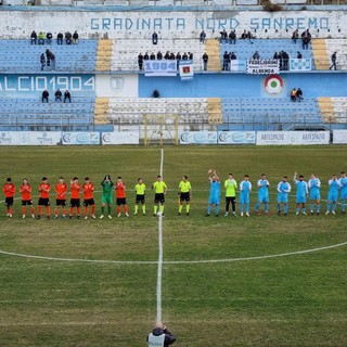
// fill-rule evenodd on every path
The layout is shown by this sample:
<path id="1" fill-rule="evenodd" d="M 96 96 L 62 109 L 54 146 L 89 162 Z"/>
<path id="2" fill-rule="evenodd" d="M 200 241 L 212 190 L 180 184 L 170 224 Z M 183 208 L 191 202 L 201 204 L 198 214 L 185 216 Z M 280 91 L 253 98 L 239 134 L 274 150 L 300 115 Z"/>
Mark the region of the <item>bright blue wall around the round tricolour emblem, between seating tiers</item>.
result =
<path id="1" fill-rule="evenodd" d="M 265 91 L 267 76 L 243 74 L 200 74 L 192 80 L 179 77 L 139 78 L 139 97 L 149 98 L 158 89 L 163 98 L 283 98 L 294 87 L 300 87 L 306 97 L 347 97 L 347 74 L 297 73 L 280 75 L 284 81 L 283 92 L 271 95 Z"/>

